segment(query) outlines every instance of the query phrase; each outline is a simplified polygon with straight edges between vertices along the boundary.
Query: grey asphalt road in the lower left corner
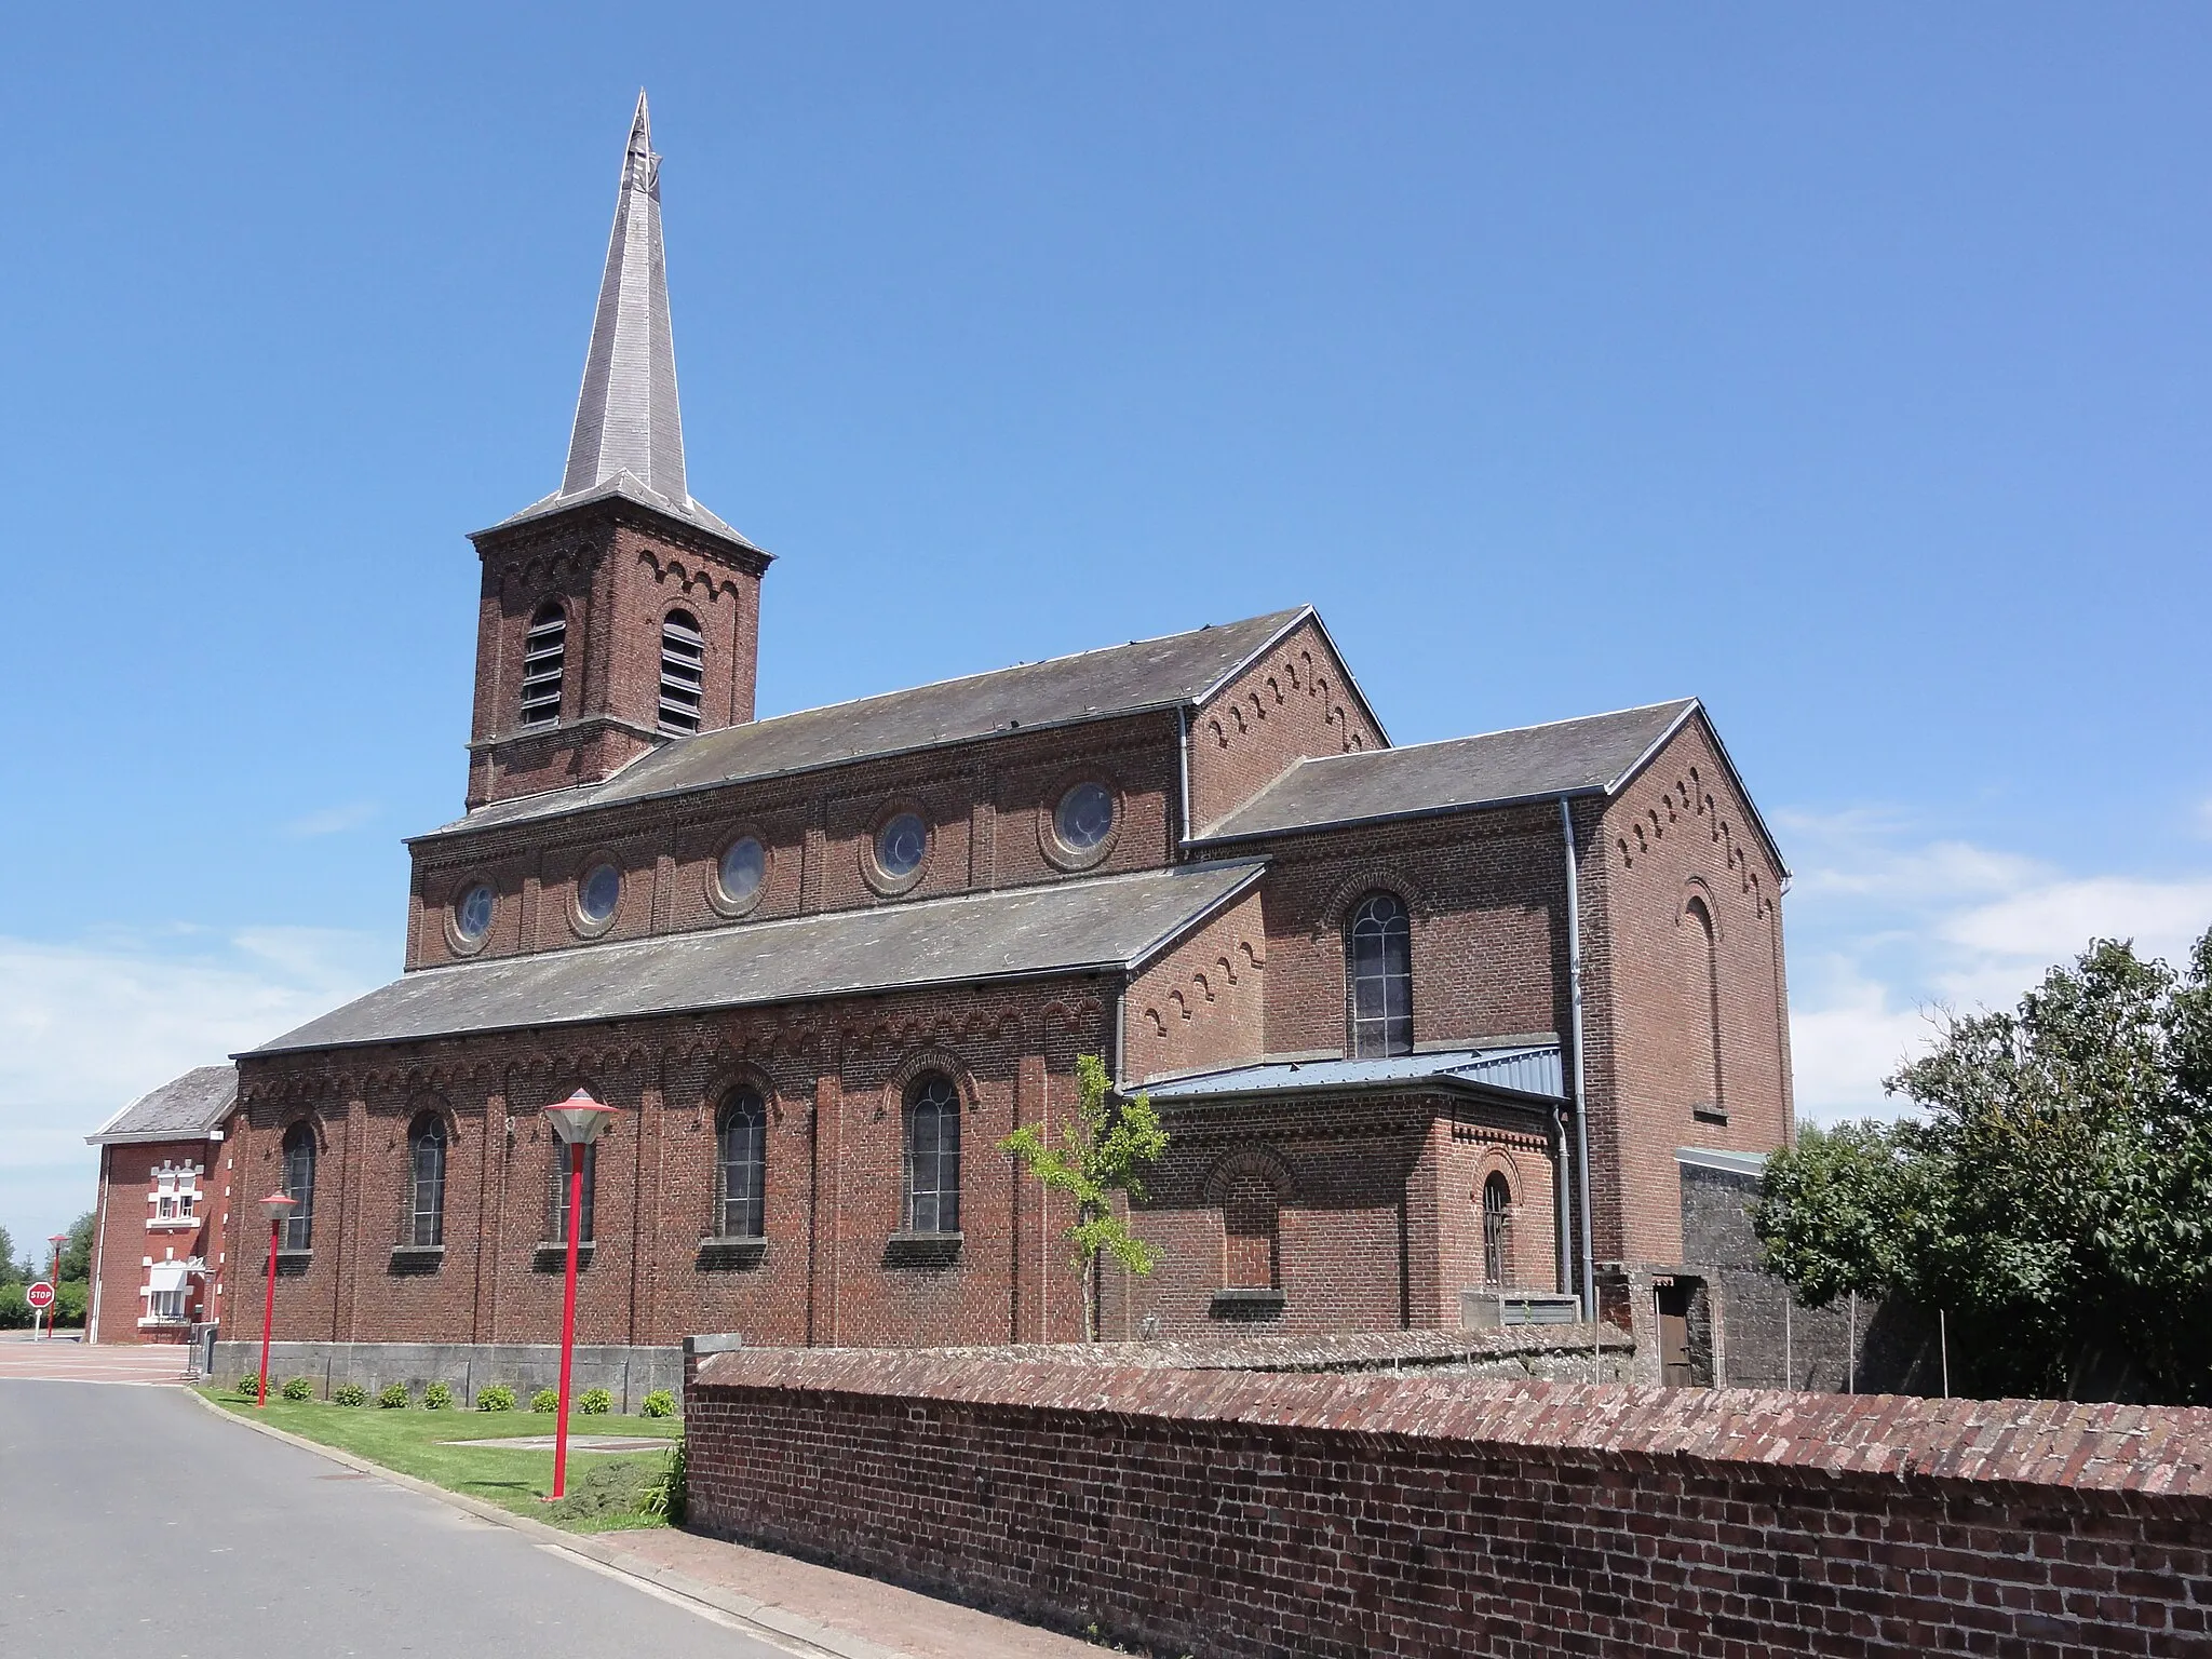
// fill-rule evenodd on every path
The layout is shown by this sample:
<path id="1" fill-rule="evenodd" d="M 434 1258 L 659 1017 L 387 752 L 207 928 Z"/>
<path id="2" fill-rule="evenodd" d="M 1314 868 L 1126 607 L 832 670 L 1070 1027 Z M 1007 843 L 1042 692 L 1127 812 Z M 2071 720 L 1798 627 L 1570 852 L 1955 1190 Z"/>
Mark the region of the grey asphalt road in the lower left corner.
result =
<path id="1" fill-rule="evenodd" d="M 0 1380 L 0 1655 L 787 1659 L 181 1389 Z"/>

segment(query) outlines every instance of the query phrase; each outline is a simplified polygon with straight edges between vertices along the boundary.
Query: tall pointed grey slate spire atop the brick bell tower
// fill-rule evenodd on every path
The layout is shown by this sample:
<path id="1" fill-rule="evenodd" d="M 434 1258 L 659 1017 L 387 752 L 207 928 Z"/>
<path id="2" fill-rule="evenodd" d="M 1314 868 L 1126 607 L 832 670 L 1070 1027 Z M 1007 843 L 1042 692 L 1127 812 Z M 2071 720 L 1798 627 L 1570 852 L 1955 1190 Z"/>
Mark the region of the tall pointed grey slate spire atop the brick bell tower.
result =
<path id="1" fill-rule="evenodd" d="M 684 476 L 684 411 L 677 407 L 677 345 L 668 325 L 668 261 L 661 254 L 661 157 L 653 150 L 653 113 L 644 91 L 637 93 L 622 150 L 615 230 L 606 239 L 606 272 L 599 276 L 599 310 L 591 319 L 568 467 L 557 491 L 507 522 L 599 495 L 626 495 L 745 542 L 690 498 Z"/>

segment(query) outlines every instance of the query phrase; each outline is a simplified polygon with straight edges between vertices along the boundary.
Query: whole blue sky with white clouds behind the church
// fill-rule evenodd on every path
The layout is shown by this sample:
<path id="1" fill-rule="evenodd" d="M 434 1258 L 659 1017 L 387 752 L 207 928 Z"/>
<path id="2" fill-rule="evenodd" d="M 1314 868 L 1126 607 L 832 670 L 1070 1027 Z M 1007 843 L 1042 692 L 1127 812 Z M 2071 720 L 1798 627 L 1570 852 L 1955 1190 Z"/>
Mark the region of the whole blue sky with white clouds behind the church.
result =
<path id="1" fill-rule="evenodd" d="M 1321 606 L 1398 741 L 1694 692 L 1801 1104 L 2212 922 L 2212 13 L 117 7 L 0 53 L 0 1223 L 398 967 L 653 93 L 774 712 Z"/>

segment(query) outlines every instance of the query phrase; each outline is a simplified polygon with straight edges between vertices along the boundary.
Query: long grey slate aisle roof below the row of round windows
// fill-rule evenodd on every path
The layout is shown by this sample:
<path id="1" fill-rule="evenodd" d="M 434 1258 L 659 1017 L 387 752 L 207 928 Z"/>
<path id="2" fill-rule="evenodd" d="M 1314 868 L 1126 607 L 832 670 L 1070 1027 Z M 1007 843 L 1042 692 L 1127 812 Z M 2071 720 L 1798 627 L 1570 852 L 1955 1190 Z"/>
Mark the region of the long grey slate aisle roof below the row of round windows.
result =
<path id="1" fill-rule="evenodd" d="M 1186 865 L 418 969 L 252 1053 L 1130 969 L 1261 869 Z"/>

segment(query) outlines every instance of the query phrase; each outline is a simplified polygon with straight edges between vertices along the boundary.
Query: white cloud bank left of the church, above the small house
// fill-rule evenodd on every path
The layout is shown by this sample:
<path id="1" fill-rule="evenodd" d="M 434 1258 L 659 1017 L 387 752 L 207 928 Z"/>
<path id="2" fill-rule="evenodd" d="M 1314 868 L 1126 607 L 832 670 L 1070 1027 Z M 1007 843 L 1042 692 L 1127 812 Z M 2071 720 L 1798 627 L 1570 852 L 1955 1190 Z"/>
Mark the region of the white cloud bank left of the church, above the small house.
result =
<path id="1" fill-rule="evenodd" d="M 0 1225 L 44 1237 L 91 1208 L 84 1137 L 115 1110 L 361 995 L 394 956 L 378 936 L 305 927 L 0 936 Z"/>

